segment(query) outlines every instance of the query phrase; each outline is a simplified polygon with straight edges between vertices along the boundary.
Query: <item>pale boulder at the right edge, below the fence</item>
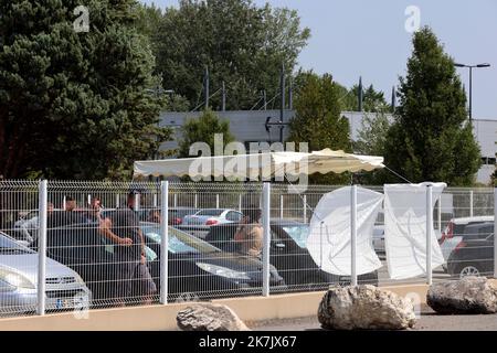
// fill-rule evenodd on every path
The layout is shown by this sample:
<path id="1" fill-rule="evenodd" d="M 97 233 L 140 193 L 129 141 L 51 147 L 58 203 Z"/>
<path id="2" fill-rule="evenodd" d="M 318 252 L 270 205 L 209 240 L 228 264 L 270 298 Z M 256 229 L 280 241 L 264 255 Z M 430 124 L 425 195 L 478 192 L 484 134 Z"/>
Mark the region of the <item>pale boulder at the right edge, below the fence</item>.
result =
<path id="1" fill-rule="evenodd" d="M 426 303 L 438 313 L 495 313 L 497 288 L 485 277 L 464 277 L 459 280 L 430 286 Z"/>

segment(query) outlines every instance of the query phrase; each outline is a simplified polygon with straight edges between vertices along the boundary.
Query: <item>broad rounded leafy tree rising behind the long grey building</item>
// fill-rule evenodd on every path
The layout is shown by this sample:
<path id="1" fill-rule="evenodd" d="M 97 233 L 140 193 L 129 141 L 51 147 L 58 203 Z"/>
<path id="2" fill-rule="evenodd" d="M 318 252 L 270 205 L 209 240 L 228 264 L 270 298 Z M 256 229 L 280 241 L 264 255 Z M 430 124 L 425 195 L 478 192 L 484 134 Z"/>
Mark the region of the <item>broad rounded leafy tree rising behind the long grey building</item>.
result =
<path id="1" fill-rule="evenodd" d="M 181 0 L 165 11 L 156 35 L 157 72 L 163 85 L 190 101 L 202 103 L 203 76 L 210 71 L 210 93 L 225 83 L 228 109 L 248 109 L 266 89 L 278 93 L 282 63 L 290 74 L 309 30 L 296 11 L 256 7 L 252 0 Z M 221 106 L 221 94 L 210 105 Z"/>

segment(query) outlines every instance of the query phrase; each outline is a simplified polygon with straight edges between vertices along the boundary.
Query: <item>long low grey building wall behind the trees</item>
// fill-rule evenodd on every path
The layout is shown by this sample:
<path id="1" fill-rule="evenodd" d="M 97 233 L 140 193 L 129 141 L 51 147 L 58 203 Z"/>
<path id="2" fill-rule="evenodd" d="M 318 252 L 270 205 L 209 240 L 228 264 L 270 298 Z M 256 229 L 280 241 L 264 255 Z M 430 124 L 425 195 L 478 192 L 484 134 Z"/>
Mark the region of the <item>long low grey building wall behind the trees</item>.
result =
<path id="1" fill-rule="evenodd" d="M 169 126 L 175 129 L 175 141 L 162 145 L 162 150 L 176 149 L 178 140 L 181 140 L 180 127 L 188 118 L 197 118 L 201 113 L 162 113 L 160 126 Z M 269 132 L 266 131 L 265 122 L 271 117 L 272 122 L 279 120 L 279 110 L 234 110 L 218 111 L 222 119 L 230 121 L 231 132 L 235 140 L 244 142 L 276 142 L 279 141 L 279 128 L 272 127 Z M 284 111 L 284 122 L 288 122 L 295 116 L 294 110 Z M 352 139 L 358 138 L 358 132 L 362 127 L 363 113 L 360 111 L 342 111 L 342 116 L 349 119 Z M 390 116 L 391 117 L 391 116 Z M 482 165 L 477 173 L 477 181 L 480 183 L 489 183 L 490 175 L 495 170 L 495 154 L 497 152 L 497 120 L 491 119 L 474 119 L 473 128 L 475 137 L 482 148 L 482 157 L 485 164 Z M 283 138 L 288 138 L 288 127 L 283 130 Z"/>

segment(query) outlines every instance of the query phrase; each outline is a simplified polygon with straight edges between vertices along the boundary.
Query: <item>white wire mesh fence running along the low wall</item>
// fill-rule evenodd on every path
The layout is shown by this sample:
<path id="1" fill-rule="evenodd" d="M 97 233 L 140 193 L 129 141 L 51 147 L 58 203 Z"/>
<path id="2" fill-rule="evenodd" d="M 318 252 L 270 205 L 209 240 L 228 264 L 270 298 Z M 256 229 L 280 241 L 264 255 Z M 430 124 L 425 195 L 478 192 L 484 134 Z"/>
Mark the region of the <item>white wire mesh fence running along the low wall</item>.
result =
<path id="1" fill-rule="evenodd" d="M 442 266 L 432 268 L 429 246 L 424 274 L 391 279 L 384 214 L 372 239 L 358 237 L 351 188 L 350 252 L 336 255 L 350 274 L 325 271 L 307 249 L 309 223 L 322 195 L 340 188 L 297 194 L 278 183 L 0 181 L 0 317 L 497 275 L 496 189 L 452 188 L 433 207 L 425 199 L 433 213 L 423 226 L 435 228 L 425 240 L 438 242 Z M 362 274 L 366 247 L 381 267 Z"/>

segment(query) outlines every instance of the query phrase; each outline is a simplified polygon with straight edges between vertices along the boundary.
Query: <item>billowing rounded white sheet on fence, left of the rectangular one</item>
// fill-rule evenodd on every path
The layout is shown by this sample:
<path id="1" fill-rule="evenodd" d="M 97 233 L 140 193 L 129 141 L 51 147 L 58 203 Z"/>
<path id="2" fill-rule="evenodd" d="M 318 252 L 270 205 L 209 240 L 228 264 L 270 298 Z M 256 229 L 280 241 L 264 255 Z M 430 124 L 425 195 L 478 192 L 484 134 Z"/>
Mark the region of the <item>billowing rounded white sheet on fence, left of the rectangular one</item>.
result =
<path id="1" fill-rule="evenodd" d="M 310 220 L 307 249 L 314 261 L 326 272 L 351 275 L 350 186 L 325 194 Z M 372 246 L 374 221 L 383 194 L 357 188 L 357 274 L 380 268 L 381 261 Z"/>

